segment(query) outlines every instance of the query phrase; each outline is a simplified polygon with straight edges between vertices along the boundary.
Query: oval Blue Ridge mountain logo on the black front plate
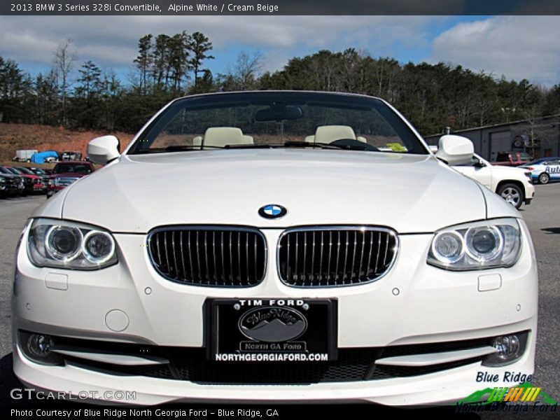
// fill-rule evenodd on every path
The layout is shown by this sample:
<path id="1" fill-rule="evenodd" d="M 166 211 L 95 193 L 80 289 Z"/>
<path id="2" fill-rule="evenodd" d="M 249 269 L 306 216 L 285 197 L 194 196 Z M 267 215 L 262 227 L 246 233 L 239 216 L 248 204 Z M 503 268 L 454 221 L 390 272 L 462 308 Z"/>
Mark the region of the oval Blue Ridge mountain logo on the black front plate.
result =
<path id="1" fill-rule="evenodd" d="M 307 330 L 307 319 L 288 307 L 258 307 L 239 318 L 239 331 L 260 342 L 285 342 Z"/>

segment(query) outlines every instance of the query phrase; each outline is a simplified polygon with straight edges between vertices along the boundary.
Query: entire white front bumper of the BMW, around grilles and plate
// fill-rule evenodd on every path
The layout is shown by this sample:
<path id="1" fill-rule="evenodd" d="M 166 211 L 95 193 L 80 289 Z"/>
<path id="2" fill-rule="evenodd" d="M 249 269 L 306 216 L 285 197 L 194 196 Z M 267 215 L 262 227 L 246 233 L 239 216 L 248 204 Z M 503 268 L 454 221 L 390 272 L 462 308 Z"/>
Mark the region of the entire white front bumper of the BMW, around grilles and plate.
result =
<path id="1" fill-rule="evenodd" d="M 115 235 L 119 263 L 95 272 L 34 267 L 20 248 L 13 296 L 13 331 L 155 346 L 204 347 L 208 297 L 336 297 L 339 349 L 425 344 L 529 331 L 524 355 L 504 367 L 470 363 L 414 377 L 294 385 L 201 384 L 110 374 L 69 363 L 45 366 L 23 356 L 14 339 L 14 371 L 35 388 L 78 393 L 135 391 L 136 404 L 178 400 L 364 400 L 417 405 L 460 400 L 488 384 L 478 372 L 534 369 L 538 281 L 528 230 L 519 262 L 509 269 L 445 272 L 426 265 L 432 235 L 401 235 L 393 269 L 379 281 L 344 288 L 290 288 L 276 272 L 281 230 L 265 230 L 267 275 L 251 288 L 204 288 L 163 279 L 148 260 L 144 235 Z M 27 241 L 25 232 L 22 243 Z M 490 276 L 490 277 L 488 277 Z M 495 282 L 499 276 L 500 281 Z M 491 283 L 487 280 L 491 278 Z M 484 290 L 484 291 L 482 291 Z M 116 328 L 111 314 L 125 314 Z M 119 330 L 118 332 L 116 330 Z M 15 337 L 14 337 L 15 338 Z M 251 369 L 251 365 L 247 365 Z M 512 384 L 503 384 L 511 386 Z M 491 386 L 500 386 L 492 383 Z"/>

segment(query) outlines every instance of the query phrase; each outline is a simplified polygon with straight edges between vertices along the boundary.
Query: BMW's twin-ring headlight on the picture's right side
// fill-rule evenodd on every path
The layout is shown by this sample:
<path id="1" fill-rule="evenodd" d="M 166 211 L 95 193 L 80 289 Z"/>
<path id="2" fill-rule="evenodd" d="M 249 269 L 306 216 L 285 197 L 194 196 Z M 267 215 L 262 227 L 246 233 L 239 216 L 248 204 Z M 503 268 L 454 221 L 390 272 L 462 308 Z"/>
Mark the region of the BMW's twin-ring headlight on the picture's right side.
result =
<path id="1" fill-rule="evenodd" d="M 451 270 L 511 267 L 520 251 L 519 223 L 514 218 L 500 218 L 436 232 L 427 262 Z"/>

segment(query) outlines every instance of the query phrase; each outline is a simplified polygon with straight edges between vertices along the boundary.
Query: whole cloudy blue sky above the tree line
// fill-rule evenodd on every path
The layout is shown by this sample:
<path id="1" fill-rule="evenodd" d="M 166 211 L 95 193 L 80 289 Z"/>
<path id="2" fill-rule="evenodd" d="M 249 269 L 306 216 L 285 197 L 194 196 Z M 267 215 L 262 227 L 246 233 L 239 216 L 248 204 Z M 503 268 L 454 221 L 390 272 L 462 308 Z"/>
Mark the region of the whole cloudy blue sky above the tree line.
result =
<path id="1" fill-rule="evenodd" d="M 214 43 L 216 73 L 240 52 L 262 54 L 264 69 L 320 49 L 356 48 L 400 62 L 461 64 L 493 76 L 560 83 L 559 16 L 0 16 L 0 55 L 31 73 L 52 66 L 57 45 L 73 40 L 77 66 L 92 59 L 134 74 L 144 34 L 202 31 Z"/>

